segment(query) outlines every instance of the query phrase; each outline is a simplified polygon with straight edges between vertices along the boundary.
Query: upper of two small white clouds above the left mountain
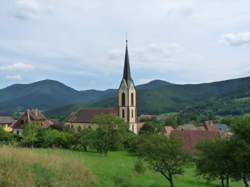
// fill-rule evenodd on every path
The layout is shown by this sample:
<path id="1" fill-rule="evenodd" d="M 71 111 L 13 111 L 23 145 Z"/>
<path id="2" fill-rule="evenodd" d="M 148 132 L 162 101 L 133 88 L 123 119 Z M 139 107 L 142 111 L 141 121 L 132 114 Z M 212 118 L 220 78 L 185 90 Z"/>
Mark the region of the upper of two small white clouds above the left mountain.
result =
<path id="1" fill-rule="evenodd" d="M 28 72 L 34 70 L 35 67 L 32 64 L 25 64 L 18 62 L 8 66 L 1 66 L 0 71 L 17 71 L 17 72 Z"/>

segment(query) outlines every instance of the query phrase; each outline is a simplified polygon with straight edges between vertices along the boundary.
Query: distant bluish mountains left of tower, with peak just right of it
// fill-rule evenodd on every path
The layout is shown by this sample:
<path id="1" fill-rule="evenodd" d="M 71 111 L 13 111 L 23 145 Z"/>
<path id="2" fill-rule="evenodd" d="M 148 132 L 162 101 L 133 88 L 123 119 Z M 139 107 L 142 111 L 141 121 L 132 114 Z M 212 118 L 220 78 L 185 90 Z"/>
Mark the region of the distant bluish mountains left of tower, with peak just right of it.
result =
<path id="1" fill-rule="evenodd" d="M 138 89 L 154 89 L 168 85 L 170 83 L 157 80 L 139 85 Z M 0 89 L 0 115 L 13 115 L 13 113 L 23 112 L 28 108 L 47 111 L 69 104 L 98 101 L 115 95 L 115 89 L 77 91 L 54 80 L 15 84 Z"/>

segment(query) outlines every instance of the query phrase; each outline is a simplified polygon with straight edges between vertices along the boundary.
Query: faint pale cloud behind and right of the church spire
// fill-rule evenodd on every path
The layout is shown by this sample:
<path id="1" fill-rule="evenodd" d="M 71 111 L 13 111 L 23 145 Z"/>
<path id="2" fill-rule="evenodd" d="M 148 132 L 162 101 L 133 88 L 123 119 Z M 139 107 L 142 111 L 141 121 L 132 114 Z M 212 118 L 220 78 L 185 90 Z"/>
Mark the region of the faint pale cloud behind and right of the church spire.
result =
<path id="1" fill-rule="evenodd" d="M 129 54 L 133 69 L 158 72 L 190 69 L 203 60 L 201 55 L 187 51 L 176 43 L 153 43 L 145 47 L 129 49 Z M 124 51 L 112 50 L 108 55 L 110 64 L 106 64 L 106 66 L 116 67 L 120 71 L 121 67 L 117 62 L 123 58 Z"/>

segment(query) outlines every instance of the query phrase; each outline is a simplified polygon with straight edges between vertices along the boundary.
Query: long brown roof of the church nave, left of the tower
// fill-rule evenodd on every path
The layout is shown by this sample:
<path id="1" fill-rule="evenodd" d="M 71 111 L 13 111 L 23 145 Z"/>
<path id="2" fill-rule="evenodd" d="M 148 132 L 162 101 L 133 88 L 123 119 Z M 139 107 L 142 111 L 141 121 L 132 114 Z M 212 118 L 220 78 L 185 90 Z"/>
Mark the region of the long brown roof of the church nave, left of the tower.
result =
<path id="1" fill-rule="evenodd" d="M 92 119 L 100 114 L 117 115 L 118 111 L 116 108 L 81 108 L 77 112 L 71 113 L 65 121 L 70 123 L 91 123 Z"/>

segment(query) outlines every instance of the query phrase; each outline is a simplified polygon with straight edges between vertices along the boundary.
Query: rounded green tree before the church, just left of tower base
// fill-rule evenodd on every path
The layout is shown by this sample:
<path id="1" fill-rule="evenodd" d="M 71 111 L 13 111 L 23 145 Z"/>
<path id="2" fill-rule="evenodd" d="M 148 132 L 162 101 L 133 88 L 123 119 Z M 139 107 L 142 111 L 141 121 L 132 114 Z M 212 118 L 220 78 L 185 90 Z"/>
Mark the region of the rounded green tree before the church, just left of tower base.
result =
<path id="1" fill-rule="evenodd" d="M 109 151 L 122 148 L 128 133 L 128 124 L 123 119 L 116 115 L 102 114 L 95 116 L 93 123 L 97 125 L 94 145 L 100 153 L 107 156 Z"/>

